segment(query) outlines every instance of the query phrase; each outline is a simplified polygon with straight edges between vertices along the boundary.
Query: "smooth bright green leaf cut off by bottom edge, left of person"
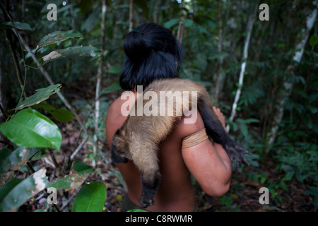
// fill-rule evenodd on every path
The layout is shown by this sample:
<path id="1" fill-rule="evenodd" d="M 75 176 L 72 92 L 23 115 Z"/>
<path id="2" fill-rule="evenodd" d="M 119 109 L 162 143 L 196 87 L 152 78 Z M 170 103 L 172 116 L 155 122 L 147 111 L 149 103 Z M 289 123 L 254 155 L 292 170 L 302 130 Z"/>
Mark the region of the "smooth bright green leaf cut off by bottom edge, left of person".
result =
<path id="1" fill-rule="evenodd" d="M 102 212 L 105 198 L 106 186 L 104 183 L 85 184 L 73 201 L 72 212 Z"/>

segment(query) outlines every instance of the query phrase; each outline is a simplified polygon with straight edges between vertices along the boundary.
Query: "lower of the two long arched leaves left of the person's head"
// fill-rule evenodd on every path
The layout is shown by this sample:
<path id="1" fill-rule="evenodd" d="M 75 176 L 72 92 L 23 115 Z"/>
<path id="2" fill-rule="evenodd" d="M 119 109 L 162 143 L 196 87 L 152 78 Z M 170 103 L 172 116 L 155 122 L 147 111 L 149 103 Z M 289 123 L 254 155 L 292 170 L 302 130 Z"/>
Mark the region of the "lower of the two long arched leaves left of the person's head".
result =
<path id="1" fill-rule="evenodd" d="M 42 57 L 41 66 L 66 57 L 100 57 L 100 54 L 100 49 L 93 46 L 57 49 Z"/>

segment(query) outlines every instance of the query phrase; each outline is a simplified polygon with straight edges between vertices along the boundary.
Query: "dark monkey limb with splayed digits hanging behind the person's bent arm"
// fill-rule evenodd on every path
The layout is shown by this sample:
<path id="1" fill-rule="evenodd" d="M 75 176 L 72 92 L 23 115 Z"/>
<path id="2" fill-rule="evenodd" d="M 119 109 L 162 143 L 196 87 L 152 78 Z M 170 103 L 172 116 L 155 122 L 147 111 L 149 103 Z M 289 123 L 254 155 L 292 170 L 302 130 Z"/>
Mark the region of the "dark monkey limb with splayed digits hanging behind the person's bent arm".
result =
<path id="1" fill-rule="evenodd" d="M 236 160 L 237 167 L 241 167 L 242 162 L 245 163 L 245 165 L 249 165 L 249 162 L 247 162 L 245 158 L 245 154 L 251 155 L 251 153 L 244 148 L 241 148 L 240 145 L 228 136 L 228 133 L 226 133 L 212 107 L 199 107 L 199 112 L 204 121 L 204 125 L 206 126 L 206 133 L 208 136 L 211 136 L 216 143 L 220 143 L 220 145 L 223 146 L 226 153 L 228 153 L 230 160 L 232 162 Z"/>

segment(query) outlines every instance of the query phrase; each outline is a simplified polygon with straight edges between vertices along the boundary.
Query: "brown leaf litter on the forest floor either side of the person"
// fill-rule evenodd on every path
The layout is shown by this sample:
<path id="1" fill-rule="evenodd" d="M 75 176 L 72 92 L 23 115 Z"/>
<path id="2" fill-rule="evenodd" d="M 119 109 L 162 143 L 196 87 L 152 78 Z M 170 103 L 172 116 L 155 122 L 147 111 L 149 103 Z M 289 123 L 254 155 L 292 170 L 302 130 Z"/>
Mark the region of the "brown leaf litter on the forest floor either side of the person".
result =
<path id="1" fill-rule="evenodd" d="M 81 87 L 81 85 L 77 87 Z M 80 90 L 78 91 L 80 92 Z M 75 93 L 77 92 L 75 91 L 71 96 L 74 97 L 74 100 L 77 100 L 77 97 L 74 96 Z M 94 95 L 93 90 L 91 93 L 86 93 L 86 95 Z M 110 95 L 108 100 L 114 100 L 116 96 L 117 94 Z M 73 153 L 74 147 L 78 145 L 76 143 L 78 142 L 79 129 L 76 120 L 58 124 L 58 126 L 61 129 L 63 141 L 61 152 L 55 152 L 54 155 L 57 159 L 57 163 L 62 167 L 65 158 L 69 157 L 71 153 Z M 88 141 L 83 145 L 83 148 L 76 155 L 74 160 L 79 160 L 87 165 L 91 165 L 92 147 L 93 145 Z M 95 157 L 95 159 L 97 159 L 96 167 L 90 177 L 86 179 L 86 183 L 93 181 L 104 182 L 107 186 L 107 198 L 104 211 L 117 212 L 120 210 L 122 198 L 126 192 L 124 180 L 118 169 L 112 165 L 110 161 L 110 151 L 106 141 L 100 142 L 100 149 L 100 155 Z M 101 157 L 101 155 L 104 156 Z M 36 160 L 33 162 L 33 165 L 39 169 L 40 167 L 46 167 L 48 175 L 52 176 L 56 173 L 52 159 L 49 156 Z M 259 172 L 266 175 L 266 180 L 262 183 L 259 178 L 255 177 Z M 268 159 L 264 162 L 259 162 L 259 167 L 245 167 L 242 169 L 242 172 L 238 172 L 237 169 L 233 170 L 230 190 L 222 198 L 207 196 L 201 191 L 199 186 L 195 184 L 194 188 L 196 189 L 199 211 L 315 211 L 314 198 L 304 192 L 306 190 L 304 184 L 293 178 L 288 182 L 284 182 L 285 187 L 283 188 L 277 185 L 280 183 L 280 178 L 283 178 L 283 173 L 277 172 L 276 162 Z M 308 183 L 310 185 L 313 184 L 312 182 Z M 268 205 L 259 203 L 259 197 L 261 196 L 259 189 L 264 186 L 269 187 Z M 61 208 L 61 206 L 64 206 L 63 211 L 70 211 L 71 203 L 73 203 L 73 198 L 77 194 L 78 189 L 80 188 L 63 192 L 59 191 L 57 207 Z M 19 211 L 33 211 L 39 208 L 47 208 L 45 197 L 43 194 L 38 194 L 31 201 L 21 206 Z"/>

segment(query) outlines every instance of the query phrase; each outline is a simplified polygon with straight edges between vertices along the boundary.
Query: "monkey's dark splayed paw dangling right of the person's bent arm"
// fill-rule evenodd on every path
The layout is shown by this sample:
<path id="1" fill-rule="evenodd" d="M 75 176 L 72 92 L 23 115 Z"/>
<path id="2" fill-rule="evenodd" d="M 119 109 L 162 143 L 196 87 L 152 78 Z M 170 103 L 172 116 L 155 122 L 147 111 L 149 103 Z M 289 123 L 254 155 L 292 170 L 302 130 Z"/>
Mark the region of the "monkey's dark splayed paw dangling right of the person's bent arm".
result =
<path id="1" fill-rule="evenodd" d="M 225 151 L 228 153 L 228 157 L 230 160 L 234 162 L 236 160 L 237 167 L 241 167 L 242 163 L 249 166 L 249 162 L 247 162 L 245 155 L 251 155 L 248 150 L 241 148 L 237 143 L 232 141 L 230 144 L 225 145 Z"/>

